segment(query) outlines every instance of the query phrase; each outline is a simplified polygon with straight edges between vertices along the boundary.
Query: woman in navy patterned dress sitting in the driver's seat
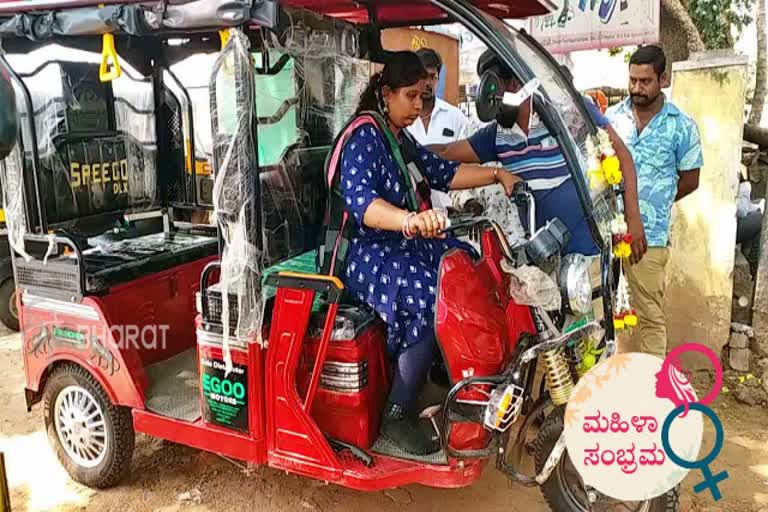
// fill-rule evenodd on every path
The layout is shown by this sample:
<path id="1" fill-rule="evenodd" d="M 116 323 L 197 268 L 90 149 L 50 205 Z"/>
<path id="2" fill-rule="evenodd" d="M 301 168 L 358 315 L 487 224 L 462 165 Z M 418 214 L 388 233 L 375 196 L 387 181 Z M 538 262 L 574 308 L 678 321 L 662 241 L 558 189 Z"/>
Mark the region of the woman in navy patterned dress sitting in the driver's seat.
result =
<path id="1" fill-rule="evenodd" d="M 356 115 L 379 112 L 401 144 L 407 136 L 404 128 L 421 112 L 426 79 L 415 53 L 392 54 L 384 69 L 371 77 Z M 449 249 L 469 247 L 441 234 L 446 219 L 440 212 L 408 210 L 407 194 L 418 194 L 417 187 L 403 179 L 385 141 L 386 134 L 377 126 L 365 124 L 343 146 L 341 183 L 346 209 L 355 220 L 344 281 L 350 293 L 374 308 L 388 327 L 394 376 L 381 433 L 406 452 L 425 455 L 437 447 L 429 430 L 420 426 L 413 402 L 435 356 L 438 264 Z M 437 190 L 499 182 L 511 195 L 519 180 L 503 169 L 442 160 L 417 144 L 416 151 L 425 180 Z"/>

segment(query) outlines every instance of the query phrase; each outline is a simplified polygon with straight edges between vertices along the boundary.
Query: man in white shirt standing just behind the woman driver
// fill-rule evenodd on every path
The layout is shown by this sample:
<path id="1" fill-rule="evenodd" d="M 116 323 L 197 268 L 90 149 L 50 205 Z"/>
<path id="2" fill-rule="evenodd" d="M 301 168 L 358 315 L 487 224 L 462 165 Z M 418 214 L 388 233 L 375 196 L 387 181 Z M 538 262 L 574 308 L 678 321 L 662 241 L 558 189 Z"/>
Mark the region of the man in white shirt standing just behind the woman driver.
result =
<path id="1" fill-rule="evenodd" d="M 458 108 L 437 97 L 435 89 L 440 80 L 443 61 L 431 48 L 422 48 L 416 52 L 427 70 L 427 88 L 421 99 L 421 115 L 407 128 L 413 138 L 422 146 L 431 144 L 449 144 L 469 136 L 469 119 Z M 432 192 L 432 204 L 436 208 L 447 208 L 452 201 L 448 194 Z"/>

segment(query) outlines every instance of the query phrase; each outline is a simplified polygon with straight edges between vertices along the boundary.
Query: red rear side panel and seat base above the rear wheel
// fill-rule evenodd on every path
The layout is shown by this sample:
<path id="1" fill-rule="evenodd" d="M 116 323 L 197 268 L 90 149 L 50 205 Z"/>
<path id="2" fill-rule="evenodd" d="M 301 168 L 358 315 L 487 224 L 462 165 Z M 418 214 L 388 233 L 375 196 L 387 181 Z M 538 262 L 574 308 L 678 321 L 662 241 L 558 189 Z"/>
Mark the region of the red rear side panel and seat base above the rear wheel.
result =
<path id="1" fill-rule="evenodd" d="M 20 298 L 27 388 L 40 391 L 51 364 L 73 361 L 99 380 L 115 404 L 143 409 L 149 384 L 144 367 L 195 345 L 195 291 L 212 259 L 115 286 L 80 304 Z"/>

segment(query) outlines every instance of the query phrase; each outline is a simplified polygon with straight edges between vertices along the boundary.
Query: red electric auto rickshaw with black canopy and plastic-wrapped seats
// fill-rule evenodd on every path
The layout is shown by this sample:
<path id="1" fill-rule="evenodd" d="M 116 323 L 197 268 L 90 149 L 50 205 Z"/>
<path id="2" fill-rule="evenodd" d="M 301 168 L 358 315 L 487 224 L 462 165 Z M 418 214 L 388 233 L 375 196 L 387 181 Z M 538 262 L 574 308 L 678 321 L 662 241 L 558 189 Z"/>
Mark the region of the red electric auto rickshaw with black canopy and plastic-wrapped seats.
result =
<path id="1" fill-rule="evenodd" d="M 558 512 L 676 510 L 677 489 L 643 503 L 602 496 L 565 452 L 574 383 L 595 348 L 601 358 L 615 348 L 617 201 L 586 184 L 595 127 L 578 93 L 536 41 L 501 21 L 551 8 L 0 3 L 0 71 L 20 126 L 2 185 L 26 400 L 30 410 L 42 402 L 70 475 L 116 485 L 143 432 L 359 490 L 468 486 L 494 459 L 513 482 L 541 486 Z M 440 265 L 435 334 L 449 384 L 431 382 L 420 397 L 441 446 L 421 457 L 378 436 L 390 383 L 384 324 L 321 271 L 318 233 L 338 212 L 326 160 L 386 57 L 382 31 L 448 23 L 521 82 L 539 81 L 537 112 L 602 252 L 592 282 L 583 256 L 559 256 L 563 223 L 535 227 L 525 186 L 513 197 L 531 219 L 522 244 L 511 247 L 485 217 L 453 220 L 482 255 L 454 251 Z M 488 118 L 501 101 L 494 80 L 483 77 L 477 100 Z M 515 270 L 525 267 L 556 283 L 561 307 L 520 299 Z M 535 474 L 524 474 L 524 456 Z"/>

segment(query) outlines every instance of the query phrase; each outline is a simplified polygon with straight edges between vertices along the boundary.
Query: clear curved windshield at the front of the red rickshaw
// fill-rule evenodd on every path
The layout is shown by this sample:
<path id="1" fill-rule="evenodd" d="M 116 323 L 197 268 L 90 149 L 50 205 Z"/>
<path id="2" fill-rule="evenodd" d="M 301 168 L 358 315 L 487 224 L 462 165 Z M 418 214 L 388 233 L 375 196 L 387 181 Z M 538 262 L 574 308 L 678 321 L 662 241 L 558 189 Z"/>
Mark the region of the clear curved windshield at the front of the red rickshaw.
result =
<path id="1" fill-rule="evenodd" d="M 579 104 L 589 100 L 576 92 L 558 69 L 557 63 L 529 36 L 485 13 L 482 13 L 482 16 L 497 28 L 499 35 L 506 39 L 520 61 L 525 63 L 541 82 L 538 94 L 540 108 L 549 108 L 551 114 L 562 119 L 567 133 L 564 134 L 565 140 L 559 142 L 571 145 L 577 157 L 578 169 L 571 168 L 571 175 L 573 179 L 582 181 L 589 190 L 592 214 L 603 240 L 608 240 L 611 236 L 610 221 L 615 212 L 615 199 L 610 188 L 589 187 L 587 139 L 594 133 L 594 122 L 587 118 L 587 111 Z"/>

